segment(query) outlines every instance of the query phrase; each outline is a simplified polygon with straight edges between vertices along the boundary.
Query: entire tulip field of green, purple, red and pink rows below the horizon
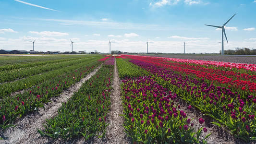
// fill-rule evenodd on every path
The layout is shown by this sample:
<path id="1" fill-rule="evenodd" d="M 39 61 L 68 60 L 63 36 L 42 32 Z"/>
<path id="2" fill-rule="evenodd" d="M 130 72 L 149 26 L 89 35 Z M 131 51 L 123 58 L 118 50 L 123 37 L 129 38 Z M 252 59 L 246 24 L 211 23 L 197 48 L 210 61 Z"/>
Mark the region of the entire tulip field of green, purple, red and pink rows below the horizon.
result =
<path id="1" fill-rule="evenodd" d="M 137 55 L 0 58 L 0 143 L 108 143 L 107 130 L 119 133 L 108 129 L 113 93 L 123 143 L 211 144 L 214 129 L 256 143 L 256 64 Z M 24 132 L 16 141 L 14 127 Z"/>

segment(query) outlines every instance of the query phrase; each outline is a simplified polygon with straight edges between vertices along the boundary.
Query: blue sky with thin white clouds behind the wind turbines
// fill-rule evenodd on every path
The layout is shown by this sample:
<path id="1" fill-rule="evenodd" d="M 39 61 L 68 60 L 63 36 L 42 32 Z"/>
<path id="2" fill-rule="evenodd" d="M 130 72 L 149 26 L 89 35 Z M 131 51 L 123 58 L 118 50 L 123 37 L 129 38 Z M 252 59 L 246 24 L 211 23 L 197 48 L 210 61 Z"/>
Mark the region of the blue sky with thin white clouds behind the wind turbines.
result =
<path id="1" fill-rule="evenodd" d="M 256 0 L 0 0 L 0 49 L 219 52 L 256 48 Z"/>

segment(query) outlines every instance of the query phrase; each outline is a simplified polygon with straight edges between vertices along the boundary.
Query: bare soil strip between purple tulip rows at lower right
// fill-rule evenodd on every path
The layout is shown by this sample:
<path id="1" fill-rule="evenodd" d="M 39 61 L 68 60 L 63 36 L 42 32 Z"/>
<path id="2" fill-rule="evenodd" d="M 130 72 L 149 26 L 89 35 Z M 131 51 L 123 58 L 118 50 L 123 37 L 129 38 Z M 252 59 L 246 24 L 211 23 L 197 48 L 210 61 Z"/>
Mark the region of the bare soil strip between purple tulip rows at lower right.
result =
<path id="1" fill-rule="evenodd" d="M 232 134 L 228 132 L 228 130 L 225 130 L 224 127 L 218 127 L 214 124 L 212 124 L 213 120 L 211 117 L 203 116 L 203 113 L 198 110 L 197 108 L 193 107 L 191 109 L 188 109 L 189 104 L 186 103 L 184 100 L 177 98 L 177 102 L 174 103 L 175 105 L 180 105 L 179 110 L 183 110 L 188 118 L 191 119 L 191 123 L 194 123 L 195 132 L 198 130 L 198 127 L 206 127 L 207 132 L 203 132 L 201 136 L 199 137 L 200 140 L 204 139 L 204 136 L 212 133 L 206 140 L 208 144 L 244 144 L 237 138 L 235 138 Z M 203 124 L 200 124 L 198 119 L 203 118 L 205 122 Z"/>

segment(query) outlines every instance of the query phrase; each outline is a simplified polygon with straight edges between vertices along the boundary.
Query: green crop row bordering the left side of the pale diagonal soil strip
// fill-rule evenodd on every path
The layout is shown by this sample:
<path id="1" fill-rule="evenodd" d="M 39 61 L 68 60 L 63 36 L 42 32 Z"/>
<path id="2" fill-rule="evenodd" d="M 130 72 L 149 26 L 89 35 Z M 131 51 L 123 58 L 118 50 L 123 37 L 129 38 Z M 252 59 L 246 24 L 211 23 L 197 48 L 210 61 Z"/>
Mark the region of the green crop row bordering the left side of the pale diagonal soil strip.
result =
<path id="1" fill-rule="evenodd" d="M 43 107 L 50 97 L 61 94 L 61 92 L 72 84 L 80 81 L 89 72 L 92 72 L 100 61 L 88 61 L 66 69 L 64 74 L 51 78 L 38 84 L 36 87 L 25 91 L 23 94 L 7 96 L 0 100 L 0 119 L 1 127 L 12 123 L 17 117 Z"/>

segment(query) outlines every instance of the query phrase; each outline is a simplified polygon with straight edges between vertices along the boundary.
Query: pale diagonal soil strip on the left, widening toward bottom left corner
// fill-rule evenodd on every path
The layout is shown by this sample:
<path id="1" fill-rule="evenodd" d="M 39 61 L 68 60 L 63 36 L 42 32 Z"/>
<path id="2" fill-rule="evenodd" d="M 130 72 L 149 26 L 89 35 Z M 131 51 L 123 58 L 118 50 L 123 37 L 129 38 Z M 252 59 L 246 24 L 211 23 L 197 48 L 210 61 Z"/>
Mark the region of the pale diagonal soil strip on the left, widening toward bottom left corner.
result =
<path id="1" fill-rule="evenodd" d="M 77 92 L 82 84 L 90 79 L 100 68 L 102 64 L 98 66 L 93 72 L 89 73 L 85 78 L 76 84 L 72 85 L 67 90 L 63 91 L 60 96 L 51 98 L 51 102 L 45 104 L 44 108 L 39 108 L 38 112 L 25 116 L 21 120 L 18 120 L 14 128 L 9 128 L 2 137 L 4 140 L 0 140 L 1 144 L 43 144 L 50 143 L 50 139 L 42 137 L 37 129 L 42 130 L 44 128 L 44 122 L 46 119 L 50 119 L 56 116 L 58 108 L 61 107 L 63 102 L 66 102 L 73 93 Z"/>

